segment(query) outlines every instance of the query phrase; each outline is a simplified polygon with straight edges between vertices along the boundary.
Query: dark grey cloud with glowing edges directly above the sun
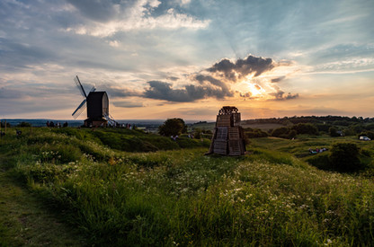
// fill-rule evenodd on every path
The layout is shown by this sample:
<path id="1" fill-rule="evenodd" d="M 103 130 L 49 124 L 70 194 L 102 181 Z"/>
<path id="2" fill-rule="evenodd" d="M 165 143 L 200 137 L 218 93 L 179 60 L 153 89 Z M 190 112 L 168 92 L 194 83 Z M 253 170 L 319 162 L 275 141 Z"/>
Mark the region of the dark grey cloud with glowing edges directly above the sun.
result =
<path id="1" fill-rule="evenodd" d="M 237 59 L 235 63 L 224 58 L 215 65 L 209 67 L 207 71 L 220 73 L 226 79 L 236 81 L 237 76 L 239 78 L 251 74 L 259 76 L 266 71 L 272 70 L 274 66 L 272 58 L 248 56 L 245 59 Z"/>

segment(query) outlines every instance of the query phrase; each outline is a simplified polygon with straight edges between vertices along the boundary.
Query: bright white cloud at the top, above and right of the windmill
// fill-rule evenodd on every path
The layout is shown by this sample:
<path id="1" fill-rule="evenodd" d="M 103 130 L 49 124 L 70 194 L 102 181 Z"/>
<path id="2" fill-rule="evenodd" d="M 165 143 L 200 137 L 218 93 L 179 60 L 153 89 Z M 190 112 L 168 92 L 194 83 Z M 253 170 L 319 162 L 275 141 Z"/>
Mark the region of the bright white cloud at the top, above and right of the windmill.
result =
<path id="1" fill-rule="evenodd" d="M 86 20 L 80 24 L 69 26 L 63 31 L 74 31 L 81 35 L 96 37 L 113 36 L 120 31 L 161 29 L 204 29 L 209 20 L 199 20 L 174 8 L 168 8 L 162 14 L 155 14 L 161 4 L 156 0 L 138 1 L 72 1 L 76 11 L 83 13 Z M 87 8 L 87 5 L 90 6 Z"/>

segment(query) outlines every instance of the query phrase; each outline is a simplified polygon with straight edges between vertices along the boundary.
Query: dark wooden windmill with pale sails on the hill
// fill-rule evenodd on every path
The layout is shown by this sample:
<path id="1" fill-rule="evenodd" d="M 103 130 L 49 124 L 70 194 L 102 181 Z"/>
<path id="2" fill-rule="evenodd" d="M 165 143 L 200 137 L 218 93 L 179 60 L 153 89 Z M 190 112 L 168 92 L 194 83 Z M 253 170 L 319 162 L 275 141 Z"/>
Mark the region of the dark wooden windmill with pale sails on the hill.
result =
<path id="1" fill-rule="evenodd" d="M 93 87 L 88 95 L 85 93 L 81 82 L 79 81 L 78 75 L 74 78 L 76 86 L 79 92 L 84 97 L 84 100 L 73 112 L 72 116 L 74 119 L 78 118 L 79 115 L 87 108 L 87 119 L 85 119 L 86 127 L 99 127 L 106 126 L 108 122 L 112 125 L 116 125 L 117 122 L 111 118 L 109 114 L 109 99 L 106 92 L 95 92 L 96 88 Z"/>

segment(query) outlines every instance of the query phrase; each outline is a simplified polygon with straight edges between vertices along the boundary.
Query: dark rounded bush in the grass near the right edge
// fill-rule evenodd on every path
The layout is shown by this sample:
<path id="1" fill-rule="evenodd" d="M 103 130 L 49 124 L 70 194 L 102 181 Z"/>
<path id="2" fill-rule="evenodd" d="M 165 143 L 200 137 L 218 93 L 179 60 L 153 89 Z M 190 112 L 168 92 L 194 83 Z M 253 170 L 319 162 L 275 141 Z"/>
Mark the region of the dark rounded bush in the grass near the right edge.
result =
<path id="1" fill-rule="evenodd" d="M 329 157 L 334 170 L 355 172 L 361 169 L 360 148 L 353 143 L 337 143 L 331 149 Z"/>

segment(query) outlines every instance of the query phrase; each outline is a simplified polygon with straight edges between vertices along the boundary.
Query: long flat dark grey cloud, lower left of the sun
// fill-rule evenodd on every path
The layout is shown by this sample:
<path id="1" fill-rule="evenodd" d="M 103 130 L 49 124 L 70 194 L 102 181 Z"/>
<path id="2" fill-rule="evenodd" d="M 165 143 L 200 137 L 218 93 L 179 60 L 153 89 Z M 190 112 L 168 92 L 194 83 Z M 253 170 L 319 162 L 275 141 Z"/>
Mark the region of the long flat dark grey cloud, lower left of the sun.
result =
<path id="1" fill-rule="evenodd" d="M 226 96 L 232 96 L 231 92 L 227 92 L 222 88 L 213 88 L 209 85 L 196 86 L 189 84 L 185 85 L 183 89 L 173 89 L 172 84 L 165 82 L 150 81 L 148 84 L 149 87 L 146 88 L 143 96 L 149 99 L 174 102 L 191 102 L 201 100 L 206 97 L 223 99 Z"/>

